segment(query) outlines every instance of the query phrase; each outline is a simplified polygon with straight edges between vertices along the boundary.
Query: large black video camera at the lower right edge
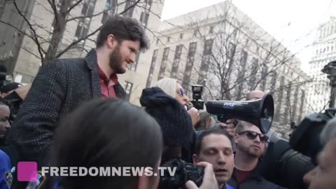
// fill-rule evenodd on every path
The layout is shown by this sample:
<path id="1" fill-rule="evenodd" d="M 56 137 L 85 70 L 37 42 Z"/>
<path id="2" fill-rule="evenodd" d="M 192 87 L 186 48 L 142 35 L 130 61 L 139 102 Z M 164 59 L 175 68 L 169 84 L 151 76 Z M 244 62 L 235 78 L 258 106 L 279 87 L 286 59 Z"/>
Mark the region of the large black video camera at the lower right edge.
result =
<path id="1" fill-rule="evenodd" d="M 323 150 L 320 134 L 335 114 L 336 109 L 313 113 L 297 125 L 289 141 L 271 141 L 260 169 L 265 179 L 286 188 L 307 188 L 302 178 L 317 165 L 316 157 Z"/>

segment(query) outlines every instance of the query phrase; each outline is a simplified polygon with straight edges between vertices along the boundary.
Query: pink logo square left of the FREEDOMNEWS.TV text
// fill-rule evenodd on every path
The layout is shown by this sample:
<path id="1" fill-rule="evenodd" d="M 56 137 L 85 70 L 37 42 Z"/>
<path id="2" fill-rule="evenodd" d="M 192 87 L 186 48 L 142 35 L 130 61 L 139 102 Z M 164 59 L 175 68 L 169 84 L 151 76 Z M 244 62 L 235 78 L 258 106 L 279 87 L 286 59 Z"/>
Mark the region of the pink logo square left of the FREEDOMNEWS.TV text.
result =
<path id="1" fill-rule="evenodd" d="M 18 181 L 37 181 L 37 162 L 18 162 Z"/>

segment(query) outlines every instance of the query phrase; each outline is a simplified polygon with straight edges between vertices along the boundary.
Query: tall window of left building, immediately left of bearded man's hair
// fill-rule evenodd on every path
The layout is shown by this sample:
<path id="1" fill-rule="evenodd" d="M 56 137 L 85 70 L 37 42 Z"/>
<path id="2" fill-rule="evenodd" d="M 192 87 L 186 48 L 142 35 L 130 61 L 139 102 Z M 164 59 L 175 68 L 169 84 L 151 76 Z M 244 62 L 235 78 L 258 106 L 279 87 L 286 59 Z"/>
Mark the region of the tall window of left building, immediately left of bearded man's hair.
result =
<path id="1" fill-rule="evenodd" d="M 81 15 L 87 16 L 92 15 L 94 6 L 96 5 L 96 0 L 87 0 L 84 1 L 84 5 L 82 8 Z M 78 22 L 78 26 L 75 33 L 75 40 L 80 38 L 85 38 L 87 36 L 87 32 L 89 31 L 91 18 L 81 18 Z M 80 41 L 80 44 L 83 44 L 84 41 Z"/>

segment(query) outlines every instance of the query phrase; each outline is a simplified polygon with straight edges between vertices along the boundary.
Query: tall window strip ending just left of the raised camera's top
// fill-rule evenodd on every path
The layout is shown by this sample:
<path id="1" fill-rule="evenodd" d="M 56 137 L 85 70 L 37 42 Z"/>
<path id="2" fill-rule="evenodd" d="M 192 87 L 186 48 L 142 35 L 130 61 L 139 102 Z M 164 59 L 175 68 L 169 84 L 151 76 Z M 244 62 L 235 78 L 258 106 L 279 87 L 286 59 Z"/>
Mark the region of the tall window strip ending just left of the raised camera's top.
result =
<path id="1" fill-rule="evenodd" d="M 191 71 L 194 66 L 196 48 L 197 48 L 197 42 L 193 42 L 189 44 L 186 69 L 184 70 L 184 76 L 183 76 L 183 82 L 182 82 L 182 86 L 185 90 L 187 90 L 187 92 L 189 91 L 188 89 L 190 85 L 190 75 L 191 75 Z"/>

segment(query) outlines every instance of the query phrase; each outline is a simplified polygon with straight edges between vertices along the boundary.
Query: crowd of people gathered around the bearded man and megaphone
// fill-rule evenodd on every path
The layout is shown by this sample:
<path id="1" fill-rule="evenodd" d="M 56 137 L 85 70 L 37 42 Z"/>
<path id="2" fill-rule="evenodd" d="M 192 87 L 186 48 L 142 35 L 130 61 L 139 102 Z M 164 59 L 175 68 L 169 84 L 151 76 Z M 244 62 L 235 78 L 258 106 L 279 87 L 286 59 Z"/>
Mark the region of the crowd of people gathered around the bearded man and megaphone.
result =
<path id="1" fill-rule="evenodd" d="M 189 189 L 283 188 L 265 180 L 259 170 L 267 144 L 276 139 L 274 130 L 263 134 L 243 120 L 219 122 L 192 107 L 174 78 L 144 89 L 141 107 L 125 102 L 118 74 L 148 48 L 137 20 L 111 17 L 97 36 L 97 48 L 85 58 L 55 59 L 41 67 L 32 84 L 3 85 L 0 188 L 29 188 L 31 183 L 18 181 L 18 162 L 37 162 L 41 170 L 45 166 L 160 167 L 174 159 L 204 168 L 202 185 L 186 181 Z M 264 95 L 255 90 L 246 94 L 246 100 Z M 325 148 L 318 166 L 302 182 L 313 189 L 336 188 L 335 119 L 321 139 Z M 47 175 L 39 187 L 154 189 L 160 188 L 159 183 L 159 176 Z"/>

